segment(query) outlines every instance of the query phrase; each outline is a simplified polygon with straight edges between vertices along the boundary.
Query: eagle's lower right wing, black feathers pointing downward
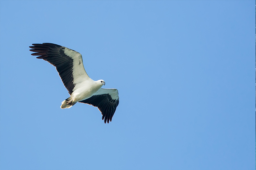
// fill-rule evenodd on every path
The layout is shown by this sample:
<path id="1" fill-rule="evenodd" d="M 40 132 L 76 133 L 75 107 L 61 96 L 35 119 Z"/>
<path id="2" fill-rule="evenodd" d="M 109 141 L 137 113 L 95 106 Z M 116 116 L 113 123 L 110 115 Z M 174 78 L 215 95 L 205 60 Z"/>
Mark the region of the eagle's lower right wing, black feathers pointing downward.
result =
<path id="1" fill-rule="evenodd" d="M 116 107 L 119 104 L 118 90 L 114 88 L 101 88 L 92 97 L 79 102 L 98 107 L 102 114 L 102 120 L 104 120 L 105 123 L 109 123 L 109 120 L 111 122 L 112 117 L 116 111 Z"/>

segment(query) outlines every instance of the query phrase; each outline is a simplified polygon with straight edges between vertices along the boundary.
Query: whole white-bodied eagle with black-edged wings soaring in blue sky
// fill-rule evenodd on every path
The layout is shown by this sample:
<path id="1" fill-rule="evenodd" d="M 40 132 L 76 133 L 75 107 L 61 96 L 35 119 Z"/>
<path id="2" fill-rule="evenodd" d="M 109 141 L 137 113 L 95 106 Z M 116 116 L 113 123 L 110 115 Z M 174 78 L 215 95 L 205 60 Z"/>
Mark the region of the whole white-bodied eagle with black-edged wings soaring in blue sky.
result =
<path id="1" fill-rule="evenodd" d="M 86 73 L 82 55 L 79 52 L 57 44 L 32 44 L 31 55 L 48 61 L 59 73 L 61 80 L 69 91 L 70 97 L 61 102 L 61 109 L 70 108 L 76 102 L 98 107 L 104 122 L 111 122 L 119 104 L 118 90 L 101 88 L 104 80 L 94 81 Z"/>

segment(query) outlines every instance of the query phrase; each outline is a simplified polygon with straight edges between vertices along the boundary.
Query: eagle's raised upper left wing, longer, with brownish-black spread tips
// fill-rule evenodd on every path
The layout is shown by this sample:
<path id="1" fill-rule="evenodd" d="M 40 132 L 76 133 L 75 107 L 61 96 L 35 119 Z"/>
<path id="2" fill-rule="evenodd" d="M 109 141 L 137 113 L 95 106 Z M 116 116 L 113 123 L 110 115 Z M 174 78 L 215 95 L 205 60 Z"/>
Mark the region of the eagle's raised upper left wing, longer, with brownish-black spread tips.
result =
<path id="1" fill-rule="evenodd" d="M 36 53 L 31 55 L 38 56 L 36 58 L 48 61 L 56 67 L 70 95 L 76 84 L 90 79 L 83 67 L 82 55 L 79 52 L 52 43 L 32 45 L 30 51 Z"/>

